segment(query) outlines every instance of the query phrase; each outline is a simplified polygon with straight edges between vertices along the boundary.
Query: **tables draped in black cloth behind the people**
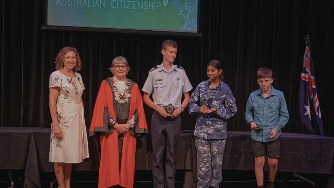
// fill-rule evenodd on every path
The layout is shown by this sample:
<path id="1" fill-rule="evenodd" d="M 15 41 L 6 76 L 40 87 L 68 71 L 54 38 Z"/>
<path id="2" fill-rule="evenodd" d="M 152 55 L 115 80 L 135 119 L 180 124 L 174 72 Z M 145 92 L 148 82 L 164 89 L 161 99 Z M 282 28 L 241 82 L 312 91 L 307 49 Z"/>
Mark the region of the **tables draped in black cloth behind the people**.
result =
<path id="1" fill-rule="evenodd" d="M 278 171 L 333 173 L 334 138 L 283 133 L 280 139 Z M 25 184 L 28 187 L 41 186 L 40 172 L 53 172 L 53 165 L 48 162 L 50 128 L 0 127 L 0 142 L 0 169 L 25 169 Z M 90 137 L 88 144 L 90 158 L 73 165 L 73 171 L 99 170 L 101 149 L 98 137 Z M 254 170 L 249 132 L 229 131 L 222 167 L 225 170 Z M 196 180 L 196 149 L 192 131 L 181 132 L 176 168 L 185 170 L 184 187 L 193 187 Z M 137 141 L 135 169 L 152 169 L 150 134 Z"/>

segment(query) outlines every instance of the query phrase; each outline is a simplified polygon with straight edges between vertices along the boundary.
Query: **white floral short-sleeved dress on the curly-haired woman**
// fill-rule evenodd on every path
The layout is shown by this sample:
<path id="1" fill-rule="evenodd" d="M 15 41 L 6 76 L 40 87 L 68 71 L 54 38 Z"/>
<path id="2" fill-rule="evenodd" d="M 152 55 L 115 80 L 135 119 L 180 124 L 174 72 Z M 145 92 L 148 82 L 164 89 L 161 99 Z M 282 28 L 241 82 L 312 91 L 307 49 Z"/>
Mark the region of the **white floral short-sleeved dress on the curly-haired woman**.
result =
<path id="1" fill-rule="evenodd" d="M 49 88 L 59 87 L 57 118 L 63 131 L 63 139 L 52 133 L 50 139 L 50 162 L 80 163 L 88 158 L 88 142 L 83 106 L 80 103 L 85 86 L 81 75 L 67 77 L 60 71 L 51 73 Z"/>

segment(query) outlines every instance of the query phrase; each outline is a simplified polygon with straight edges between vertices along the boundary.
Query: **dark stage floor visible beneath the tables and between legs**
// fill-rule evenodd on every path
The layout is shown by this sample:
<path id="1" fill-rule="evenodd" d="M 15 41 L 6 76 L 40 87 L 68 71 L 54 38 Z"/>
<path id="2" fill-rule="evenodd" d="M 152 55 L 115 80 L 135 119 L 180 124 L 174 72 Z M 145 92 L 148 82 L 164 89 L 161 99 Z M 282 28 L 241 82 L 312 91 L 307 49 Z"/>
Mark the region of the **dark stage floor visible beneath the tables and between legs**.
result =
<path id="1" fill-rule="evenodd" d="M 245 187 L 256 187 L 254 171 L 238 171 L 238 170 L 224 170 L 223 179 L 220 187 L 224 188 L 245 188 Z M 182 187 L 184 178 L 184 170 L 176 171 L 176 187 Z M 311 188 L 313 187 L 310 183 L 302 181 L 296 178 L 287 178 L 286 181 L 283 181 L 283 177 L 290 175 L 287 172 L 277 172 L 275 188 L 294 188 L 294 187 L 303 187 Z M 327 187 L 332 188 L 328 184 L 328 178 L 330 175 L 327 174 L 301 174 L 306 178 L 312 179 L 316 183 L 316 187 Z M 265 173 L 267 177 L 267 173 Z M 13 178 L 15 183 L 15 188 L 23 187 L 23 181 L 19 181 L 20 178 L 24 178 L 24 170 L 14 170 Z M 76 171 L 72 172 L 72 186 L 76 187 L 98 187 L 98 172 L 96 171 Z M 267 179 L 267 178 L 266 178 Z M 42 187 L 49 187 L 50 182 L 55 180 L 53 172 L 41 172 L 41 185 Z M 267 182 L 265 181 L 265 184 Z M 9 187 L 10 181 L 8 176 L 8 170 L 0 170 L 0 187 Z M 332 184 L 331 184 L 332 185 Z M 57 187 L 57 186 L 55 186 Z M 147 188 L 153 187 L 152 182 L 152 173 L 149 170 L 139 170 L 135 171 L 135 188 Z M 190 188 L 190 187 L 189 187 Z"/>

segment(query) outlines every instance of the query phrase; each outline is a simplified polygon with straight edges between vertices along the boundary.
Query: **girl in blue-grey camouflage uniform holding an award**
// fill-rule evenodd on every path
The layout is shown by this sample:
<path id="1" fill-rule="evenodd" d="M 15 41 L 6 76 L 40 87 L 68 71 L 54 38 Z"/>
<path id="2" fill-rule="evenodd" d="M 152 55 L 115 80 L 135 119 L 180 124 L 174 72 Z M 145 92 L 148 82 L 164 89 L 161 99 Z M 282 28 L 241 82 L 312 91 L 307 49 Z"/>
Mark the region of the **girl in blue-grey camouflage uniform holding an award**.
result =
<path id="1" fill-rule="evenodd" d="M 222 179 L 222 155 L 227 139 L 227 119 L 237 111 L 230 87 L 223 82 L 221 63 L 212 60 L 207 66 L 209 80 L 194 90 L 189 113 L 197 115 L 197 187 L 219 187 Z"/>

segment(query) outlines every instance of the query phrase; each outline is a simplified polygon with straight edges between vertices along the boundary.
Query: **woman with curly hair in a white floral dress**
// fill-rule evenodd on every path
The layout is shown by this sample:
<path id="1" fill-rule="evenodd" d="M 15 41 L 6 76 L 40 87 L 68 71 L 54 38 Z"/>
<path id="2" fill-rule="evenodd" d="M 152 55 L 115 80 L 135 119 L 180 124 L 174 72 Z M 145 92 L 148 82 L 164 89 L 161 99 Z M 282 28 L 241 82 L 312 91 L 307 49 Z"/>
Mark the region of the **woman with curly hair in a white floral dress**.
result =
<path id="1" fill-rule="evenodd" d="M 54 163 L 58 187 L 70 187 L 72 163 L 88 158 L 84 119 L 81 60 L 76 48 L 64 47 L 55 59 L 56 71 L 49 82 L 52 118 L 49 161 Z"/>

